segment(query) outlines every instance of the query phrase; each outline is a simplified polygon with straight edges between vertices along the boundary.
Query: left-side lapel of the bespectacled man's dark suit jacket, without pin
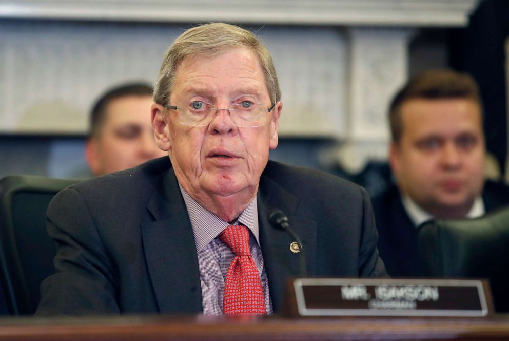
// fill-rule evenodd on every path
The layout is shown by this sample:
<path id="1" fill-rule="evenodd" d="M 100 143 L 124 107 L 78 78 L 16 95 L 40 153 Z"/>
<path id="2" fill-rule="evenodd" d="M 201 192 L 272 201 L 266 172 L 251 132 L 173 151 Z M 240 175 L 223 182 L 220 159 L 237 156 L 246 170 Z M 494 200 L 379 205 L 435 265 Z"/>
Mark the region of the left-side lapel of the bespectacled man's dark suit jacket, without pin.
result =
<path id="1" fill-rule="evenodd" d="M 194 235 L 173 169 L 156 181 L 147 209 L 155 221 L 142 224 L 142 238 L 161 313 L 202 312 Z"/>

